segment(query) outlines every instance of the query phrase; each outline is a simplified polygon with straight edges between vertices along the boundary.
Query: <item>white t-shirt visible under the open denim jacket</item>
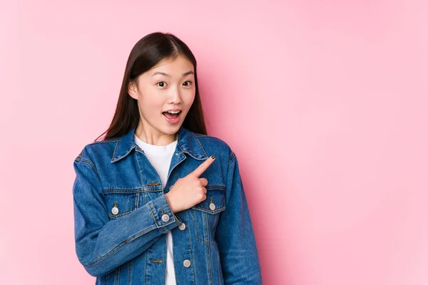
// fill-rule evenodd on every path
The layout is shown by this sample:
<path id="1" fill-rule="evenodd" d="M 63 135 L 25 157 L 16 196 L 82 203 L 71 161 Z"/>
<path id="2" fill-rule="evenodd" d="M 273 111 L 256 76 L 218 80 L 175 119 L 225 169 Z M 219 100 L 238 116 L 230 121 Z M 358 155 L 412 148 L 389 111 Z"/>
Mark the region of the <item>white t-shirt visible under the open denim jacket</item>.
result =
<path id="1" fill-rule="evenodd" d="M 171 142 L 169 145 L 151 145 L 140 140 L 135 134 L 134 140 L 136 144 L 144 150 L 144 153 L 151 165 L 155 167 L 159 177 L 161 177 L 163 190 L 165 190 L 166 178 L 168 176 L 168 170 L 175 147 L 177 146 L 177 140 L 175 140 L 175 142 Z M 165 285 L 176 285 L 173 259 L 173 235 L 171 232 L 166 234 L 166 249 Z"/>

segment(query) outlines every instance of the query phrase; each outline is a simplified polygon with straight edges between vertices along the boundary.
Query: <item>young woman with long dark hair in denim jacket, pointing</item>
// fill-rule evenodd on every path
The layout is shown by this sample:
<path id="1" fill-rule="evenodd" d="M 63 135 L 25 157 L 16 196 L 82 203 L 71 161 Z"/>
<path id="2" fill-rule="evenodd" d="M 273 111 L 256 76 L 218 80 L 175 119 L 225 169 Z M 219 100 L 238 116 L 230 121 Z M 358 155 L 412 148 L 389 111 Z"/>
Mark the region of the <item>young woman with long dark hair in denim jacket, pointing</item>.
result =
<path id="1" fill-rule="evenodd" d="M 96 284 L 262 284 L 238 160 L 207 135 L 183 41 L 136 43 L 104 134 L 73 162 L 76 254 Z"/>

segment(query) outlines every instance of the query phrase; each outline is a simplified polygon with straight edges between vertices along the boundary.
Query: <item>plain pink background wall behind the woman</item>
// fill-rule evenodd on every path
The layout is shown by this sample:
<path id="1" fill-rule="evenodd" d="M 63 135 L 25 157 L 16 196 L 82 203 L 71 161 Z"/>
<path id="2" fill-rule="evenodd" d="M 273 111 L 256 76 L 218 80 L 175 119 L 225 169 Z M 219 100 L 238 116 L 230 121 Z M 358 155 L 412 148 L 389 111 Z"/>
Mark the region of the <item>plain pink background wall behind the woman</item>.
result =
<path id="1" fill-rule="evenodd" d="M 0 26 L 1 284 L 94 284 L 73 159 L 153 31 L 198 59 L 264 284 L 428 283 L 427 1 L 1 1 Z"/>

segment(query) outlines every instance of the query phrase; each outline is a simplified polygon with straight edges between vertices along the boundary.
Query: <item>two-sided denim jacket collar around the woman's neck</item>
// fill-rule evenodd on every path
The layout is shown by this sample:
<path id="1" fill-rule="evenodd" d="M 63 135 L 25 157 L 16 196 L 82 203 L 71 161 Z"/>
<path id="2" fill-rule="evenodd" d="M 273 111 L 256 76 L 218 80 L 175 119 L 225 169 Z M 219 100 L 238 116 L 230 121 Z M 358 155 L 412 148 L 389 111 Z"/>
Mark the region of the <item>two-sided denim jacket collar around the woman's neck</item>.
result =
<path id="1" fill-rule="evenodd" d="M 133 149 L 138 147 L 134 140 L 135 131 L 136 128 L 132 128 L 128 133 L 118 138 L 113 157 L 111 157 L 111 162 L 123 159 L 129 155 Z M 178 130 L 177 145 L 182 152 L 187 152 L 188 155 L 195 159 L 202 160 L 208 158 L 196 134 L 184 128 L 183 125 L 181 125 Z"/>

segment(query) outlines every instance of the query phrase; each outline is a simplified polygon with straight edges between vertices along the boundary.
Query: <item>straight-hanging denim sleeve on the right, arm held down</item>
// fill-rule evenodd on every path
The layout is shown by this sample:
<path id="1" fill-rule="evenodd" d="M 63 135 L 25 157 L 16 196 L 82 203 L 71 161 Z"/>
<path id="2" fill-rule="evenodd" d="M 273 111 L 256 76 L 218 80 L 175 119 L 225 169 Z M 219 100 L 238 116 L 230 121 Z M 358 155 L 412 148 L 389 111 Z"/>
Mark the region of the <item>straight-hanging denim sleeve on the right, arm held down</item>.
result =
<path id="1" fill-rule="evenodd" d="M 229 284 L 262 284 L 258 250 L 238 160 L 232 152 L 226 180 L 226 209 L 220 213 L 215 241 L 223 279 Z"/>

